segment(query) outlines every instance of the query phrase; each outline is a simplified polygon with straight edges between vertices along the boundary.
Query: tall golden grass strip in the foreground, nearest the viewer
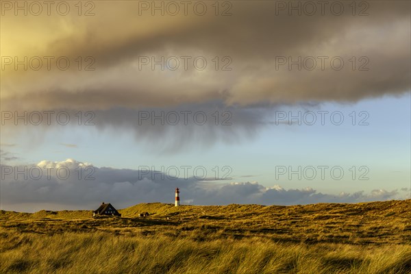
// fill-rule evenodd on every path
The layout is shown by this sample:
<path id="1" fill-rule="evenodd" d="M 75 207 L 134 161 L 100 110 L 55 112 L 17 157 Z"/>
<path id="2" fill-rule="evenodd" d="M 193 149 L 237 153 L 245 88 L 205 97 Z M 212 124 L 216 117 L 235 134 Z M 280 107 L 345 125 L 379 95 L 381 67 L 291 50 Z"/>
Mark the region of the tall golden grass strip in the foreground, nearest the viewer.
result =
<path id="1" fill-rule="evenodd" d="M 1 273 L 409 273 L 410 245 L 1 232 Z"/>

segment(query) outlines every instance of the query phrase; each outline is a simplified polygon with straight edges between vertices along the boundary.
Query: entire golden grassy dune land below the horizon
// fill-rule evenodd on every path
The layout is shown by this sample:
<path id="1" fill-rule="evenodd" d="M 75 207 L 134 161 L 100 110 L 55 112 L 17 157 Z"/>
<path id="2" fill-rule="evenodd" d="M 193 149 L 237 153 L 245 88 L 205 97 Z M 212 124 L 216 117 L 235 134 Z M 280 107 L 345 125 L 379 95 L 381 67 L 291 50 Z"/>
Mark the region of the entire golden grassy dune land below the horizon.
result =
<path id="1" fill-rule="evenodd" d="M 149 217 L 136 217 L 147 211 Z M 409 273 L 411 200 L 0 212 L 0 273 Z"/>

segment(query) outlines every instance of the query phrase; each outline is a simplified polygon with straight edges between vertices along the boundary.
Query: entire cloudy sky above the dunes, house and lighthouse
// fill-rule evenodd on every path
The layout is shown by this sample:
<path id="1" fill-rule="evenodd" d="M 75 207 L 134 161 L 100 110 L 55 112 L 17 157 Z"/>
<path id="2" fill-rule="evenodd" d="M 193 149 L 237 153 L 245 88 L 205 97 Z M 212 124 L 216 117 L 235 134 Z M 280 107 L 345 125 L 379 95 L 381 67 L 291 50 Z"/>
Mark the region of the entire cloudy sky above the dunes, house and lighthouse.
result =
<path id="1" fill-rule="evenodd" d="M 2 210 L 411 198 L 408 1 L 0 5 Z"/>

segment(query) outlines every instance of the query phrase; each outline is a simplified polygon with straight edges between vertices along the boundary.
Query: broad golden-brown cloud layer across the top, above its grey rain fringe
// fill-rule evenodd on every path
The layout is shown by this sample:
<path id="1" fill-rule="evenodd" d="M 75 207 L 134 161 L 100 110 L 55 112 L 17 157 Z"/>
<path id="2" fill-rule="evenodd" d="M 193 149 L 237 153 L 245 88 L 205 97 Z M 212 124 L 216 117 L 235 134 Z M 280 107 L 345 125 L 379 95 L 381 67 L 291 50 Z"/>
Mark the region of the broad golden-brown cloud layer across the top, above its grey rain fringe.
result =
<path id="1" fill-rule="evenodd" d="M 330 1 L 332 3 L 332 1 Z M 138 16 L 138 1 L 99 3 L 92 20 L 58 18 L 66 32 L 44 38 L 37 55 L 92 56 L 96 71 L 6 70 L 5 106 L 21 108 L 167 107 L 220 100 L 227 105 L 261 101 L 357 101 L 410 88 L 410 3 L 371 1 L 368 16 L 275 15 L 275 1 L 232 2 L 232 16 Z M 5 17 L 5 25 L 13 19 Z M 22 18 L 24 21 L 25 18 Z M 27 19 L 28 20 L 28 19 Z M 42 19 L 39 18 L 39 21 Z M 36 22 L 34 22 L 34 26 Z M 41 22 L 38 23 L 41 25 Z M 16 24 L 18 31 L 18 24 Z M 51 29 L 61 27 L 56 24 Z M 40 29 L 40 28 L 39 28 Z M 34 27 L 34 31 L 40 30 Z M 75 29 L 75 31 L 71 31 Z M 41 54 L 44 53 L 44 54 Z M 232 71 L 140 71 L 139 56 L 232 58 Z M 275 69 L 278 56 L 340 56 L 344 69 Z M 355 69 L 349 59 L 356 57 Z M 361 57 L 368 58 L 358 60 Z M 318 60 L 319 61 L 319 60 Z M 358 66 L 368 62 L 368 71 Z M 21 81 L 16 82 L 16 79 Z M 39 81 L 41 80 L 41 81 Z M 36 96 L 33 96 L 36 95 Z"/>

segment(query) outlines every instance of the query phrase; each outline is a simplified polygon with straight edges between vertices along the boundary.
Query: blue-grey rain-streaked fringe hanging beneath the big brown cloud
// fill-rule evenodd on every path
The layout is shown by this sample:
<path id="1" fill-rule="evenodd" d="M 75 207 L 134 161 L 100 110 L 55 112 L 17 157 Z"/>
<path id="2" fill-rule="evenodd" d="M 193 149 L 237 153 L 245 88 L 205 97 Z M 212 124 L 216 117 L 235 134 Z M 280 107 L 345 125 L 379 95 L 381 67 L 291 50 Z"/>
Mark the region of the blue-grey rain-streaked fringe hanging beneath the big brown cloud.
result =
<path id="1" fill-rule="evenodd" d="M 155 145 L 157 151 L 175 152 L 184 147 L 208 147 L 214 142 L 233 144 L 256 136 L 265 124 L 273 120 L 275 105 L 259 104 L 248 107 L 235 105 L 225 106 L 219 101 L 208 101 L 201 104 L 184 104 L 175 108 L 112 108 L 81 112 L 77 110 L 53 110 L 50 123 L 45 112 L 40 112 L 42 123 L 36 125 L 38 115 L 27 112 L 27 125 L 16 121 L 16 116 L 23 112 L 10 112 L 10 119 L 4 121 L 3 134 L 19 134 L 18 128 L 29 132 L 36 131 L 41 136 L 47 129 L 71 127 L 73 129 L 97 129 L 101 132 L 132 134 L 139 142 Z M 5 115 L 3 115 L 5 116 Z M 67 118 L 69 122 L 65 125 Z M 33 120 L 34 123 L 30 121 Z M 8 125 L 20 127 L 8 127 Z M 10 134 L 10 135 L 9 135 Z M 65 147 L 77 147 L 61 143 Z"/>

